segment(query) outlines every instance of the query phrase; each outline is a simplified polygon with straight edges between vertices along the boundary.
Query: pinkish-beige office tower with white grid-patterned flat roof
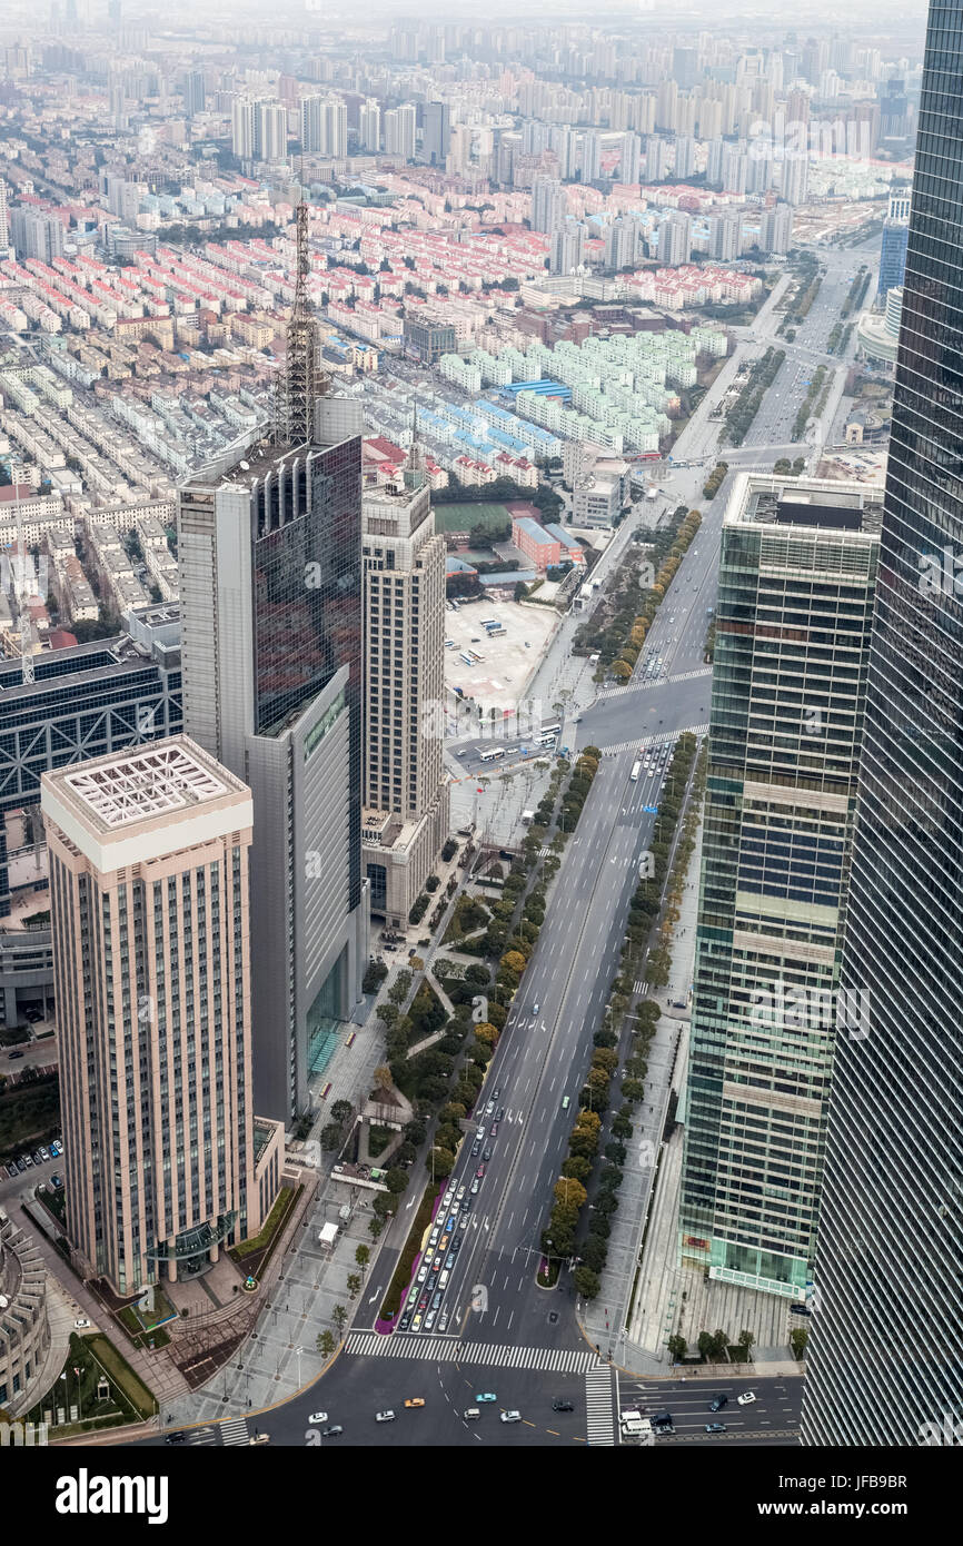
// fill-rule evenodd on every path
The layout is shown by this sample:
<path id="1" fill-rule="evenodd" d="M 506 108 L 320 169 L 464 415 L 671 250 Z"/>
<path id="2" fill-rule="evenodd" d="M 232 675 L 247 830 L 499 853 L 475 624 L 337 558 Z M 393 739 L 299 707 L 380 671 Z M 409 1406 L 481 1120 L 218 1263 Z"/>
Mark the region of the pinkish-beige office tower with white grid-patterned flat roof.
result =
<path id="1" fill-rule="evenodd" d="M 250 790 L 185 736 L 45 773 L 66 1229 L 119 1296 L 257 1235 Z"/>

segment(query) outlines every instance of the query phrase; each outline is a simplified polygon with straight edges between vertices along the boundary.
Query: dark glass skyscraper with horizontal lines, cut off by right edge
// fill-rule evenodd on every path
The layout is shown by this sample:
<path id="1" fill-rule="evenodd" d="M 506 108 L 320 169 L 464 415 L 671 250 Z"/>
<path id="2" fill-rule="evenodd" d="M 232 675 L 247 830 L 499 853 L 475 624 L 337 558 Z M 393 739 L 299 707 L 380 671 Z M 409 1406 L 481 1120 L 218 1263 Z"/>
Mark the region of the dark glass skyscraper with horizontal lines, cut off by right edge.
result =
<path id="1" fill-rule="evenodd" d="M 836 1051 L 807 1444 L 963 1413 L 963 3 L 929 12 Z M 932 1430 L 929 1430 L 932 1433 Z"/>

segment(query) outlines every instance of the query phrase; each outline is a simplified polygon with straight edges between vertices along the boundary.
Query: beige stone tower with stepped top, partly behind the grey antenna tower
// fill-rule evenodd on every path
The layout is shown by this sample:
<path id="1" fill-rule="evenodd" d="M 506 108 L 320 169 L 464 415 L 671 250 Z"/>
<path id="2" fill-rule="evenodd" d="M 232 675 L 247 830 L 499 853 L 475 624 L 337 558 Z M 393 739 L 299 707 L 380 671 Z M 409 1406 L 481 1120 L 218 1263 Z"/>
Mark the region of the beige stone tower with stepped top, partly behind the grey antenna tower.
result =
<path id="1" fill-rule="evenodd" d="M 417 444 L 365 492 L 363 864 L 371 911 L 405 928 L 448 836 L 442 761 L 445 543 Z"/>

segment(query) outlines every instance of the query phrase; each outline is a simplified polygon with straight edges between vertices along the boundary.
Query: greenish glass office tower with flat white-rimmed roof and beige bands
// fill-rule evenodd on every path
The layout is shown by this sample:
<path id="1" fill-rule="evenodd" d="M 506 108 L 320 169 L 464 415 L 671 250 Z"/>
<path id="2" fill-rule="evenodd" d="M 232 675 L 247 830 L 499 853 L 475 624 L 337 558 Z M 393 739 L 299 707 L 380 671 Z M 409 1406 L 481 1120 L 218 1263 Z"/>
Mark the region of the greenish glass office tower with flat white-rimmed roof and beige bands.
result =
<path id="1" fill-rule="evenodd" d="M 742 473 L 722 530 L 680 1254 L 796 1300 L 852 1008 L 841 925 L 880 521 L 878 490 Z"/>

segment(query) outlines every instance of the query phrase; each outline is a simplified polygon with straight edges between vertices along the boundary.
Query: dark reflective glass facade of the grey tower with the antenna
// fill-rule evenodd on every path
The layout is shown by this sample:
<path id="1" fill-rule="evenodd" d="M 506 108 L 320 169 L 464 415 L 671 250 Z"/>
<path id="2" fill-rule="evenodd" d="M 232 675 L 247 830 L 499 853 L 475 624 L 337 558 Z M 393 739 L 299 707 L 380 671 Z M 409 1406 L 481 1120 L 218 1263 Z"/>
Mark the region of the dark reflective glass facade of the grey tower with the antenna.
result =
<path id="1" fill-rule="evenodd" d="M 360 441 L 300 453 L 252 501 L 255 730 L 275 734 L 348 666 L 351 897 L 362 897 Z"/>

